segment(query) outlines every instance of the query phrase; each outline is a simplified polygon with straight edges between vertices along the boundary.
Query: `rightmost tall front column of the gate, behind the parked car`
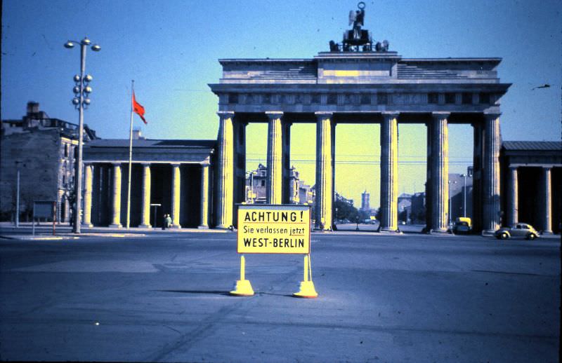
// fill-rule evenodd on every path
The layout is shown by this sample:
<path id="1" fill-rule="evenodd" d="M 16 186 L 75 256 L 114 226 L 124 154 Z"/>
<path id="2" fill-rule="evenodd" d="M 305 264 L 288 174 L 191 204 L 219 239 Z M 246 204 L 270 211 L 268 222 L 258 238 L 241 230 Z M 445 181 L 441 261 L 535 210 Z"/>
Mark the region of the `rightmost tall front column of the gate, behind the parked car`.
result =
<path id="1" fill-rule="evenodd" d="M 499 114 L 484 114 L 483 234 L 499 228 Z"/>

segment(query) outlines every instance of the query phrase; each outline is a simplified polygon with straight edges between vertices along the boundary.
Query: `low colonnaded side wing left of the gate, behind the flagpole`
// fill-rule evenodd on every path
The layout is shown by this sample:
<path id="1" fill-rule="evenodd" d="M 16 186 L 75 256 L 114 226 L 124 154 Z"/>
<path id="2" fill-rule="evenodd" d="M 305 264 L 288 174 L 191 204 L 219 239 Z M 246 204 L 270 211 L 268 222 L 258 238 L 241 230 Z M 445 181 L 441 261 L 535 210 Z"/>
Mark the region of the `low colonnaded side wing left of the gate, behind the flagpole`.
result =
<path id="1" fill-rule="evenodd" d="M 172 228 L 208 228 L 215 148 L 214 140 L 133 140 L 129 177 L 128 140 L 94 140 L 85 148 L 84 226 L 152 228 L 169 214 Z"/>

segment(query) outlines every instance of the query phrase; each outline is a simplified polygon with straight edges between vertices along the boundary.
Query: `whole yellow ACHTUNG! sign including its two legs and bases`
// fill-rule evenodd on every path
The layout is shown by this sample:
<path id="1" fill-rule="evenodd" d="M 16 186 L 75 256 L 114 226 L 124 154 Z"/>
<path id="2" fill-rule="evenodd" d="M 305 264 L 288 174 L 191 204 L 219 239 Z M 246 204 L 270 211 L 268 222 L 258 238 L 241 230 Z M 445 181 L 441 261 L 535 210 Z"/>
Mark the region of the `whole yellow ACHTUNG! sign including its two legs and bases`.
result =
<path id="1" fill-rule="evenodd" d="M 237 252 L 240 280 L 230 294 L 253 296 L 246 280 L 244 253 L 305 254 L 303 281 L 295 297 L 312 299 L 318 293 L 312 282 L 311 207 L 308 205 L 238 205 Z"/>

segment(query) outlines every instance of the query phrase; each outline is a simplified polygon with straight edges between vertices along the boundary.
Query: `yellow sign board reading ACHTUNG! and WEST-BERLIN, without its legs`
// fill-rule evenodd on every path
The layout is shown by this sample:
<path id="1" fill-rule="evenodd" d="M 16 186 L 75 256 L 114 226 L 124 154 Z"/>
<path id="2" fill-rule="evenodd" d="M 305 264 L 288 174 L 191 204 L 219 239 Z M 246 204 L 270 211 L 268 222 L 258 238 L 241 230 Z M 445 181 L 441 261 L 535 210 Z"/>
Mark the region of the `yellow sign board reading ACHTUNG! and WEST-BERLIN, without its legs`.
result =
<path id="1" fill-rule="evenodd" d="M 238 205 L 238 253 L 310 252 L 309 205 Z"/>

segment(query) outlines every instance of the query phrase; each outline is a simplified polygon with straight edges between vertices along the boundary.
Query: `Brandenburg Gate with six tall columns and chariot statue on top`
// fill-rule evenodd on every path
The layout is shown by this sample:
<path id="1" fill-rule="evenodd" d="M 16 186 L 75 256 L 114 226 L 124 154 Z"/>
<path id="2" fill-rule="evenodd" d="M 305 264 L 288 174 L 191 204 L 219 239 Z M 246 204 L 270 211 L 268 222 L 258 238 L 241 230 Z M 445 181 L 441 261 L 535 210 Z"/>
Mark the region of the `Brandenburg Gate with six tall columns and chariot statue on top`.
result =
<path id="1" fill-rule="evenodd" d="M 360 3 L 362 4 L 362 3 Z M 364 8 L 364 4 L 363 4 Z M 288 203 L 290 132 L 316 124 L 315 228 L 333 224 L 336 125 L 381 125 L 381 232 L 398 231 L 398 124 L 426 125 L 427 230 L 447 231 L 450 124 L 473 127 L 473 226 L 493 233 L 500 224 L 499 100 L 509 83 L 500 58 L 403 58 L 361 29 L 364 10 L 342 43 L 312 59 L 223 59 L 209 85 L 218 95 L 216 226 L 235 224 L 244 201 L 245 127 L 268 123 L 267 203 Z M 353 140 L 348 140 L 353 142 Z"/>

